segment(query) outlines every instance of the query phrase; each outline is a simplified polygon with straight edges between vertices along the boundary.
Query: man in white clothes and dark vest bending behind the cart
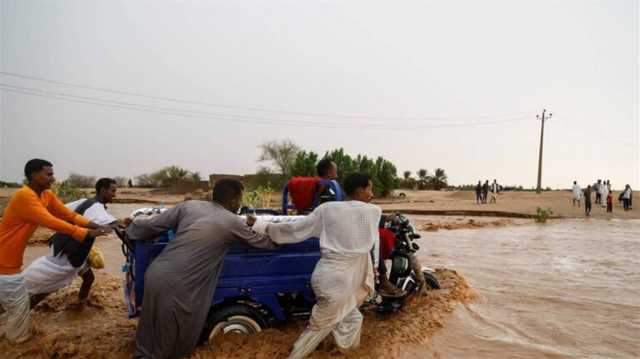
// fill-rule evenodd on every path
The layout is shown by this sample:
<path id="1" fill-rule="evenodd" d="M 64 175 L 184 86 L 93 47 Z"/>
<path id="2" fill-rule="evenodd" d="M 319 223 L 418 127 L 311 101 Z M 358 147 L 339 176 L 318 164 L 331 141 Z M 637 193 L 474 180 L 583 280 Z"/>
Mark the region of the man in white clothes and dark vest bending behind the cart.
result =
<path id="1" fill-rule="evenodd" d="M 116 196 L 116 181 L 101 178 L 96 182 L 95 198 L 84 198 L 66 204 L 72 211 L 83 212 L 83 216 L 99 225 L 115 226 L 117 220 L 107 212 L 107 203 Z M 57 238 L 56 238 L 57 237 Z M 33 261 L 24 270 L 23 277 L 27 292 L 32 297 L 34 307 L 48 294 L 71 284 L 76 275 L 82 278 L 82 286 L 78 297 L 81 300 L 89 296 L 91 285 L 95 279 L 86 256 L 93 245 L 93 238 L 85 240 L 82 245 L 65 242 L 64 237 L 55 234 L 51 245 L 51 254 Z"/>

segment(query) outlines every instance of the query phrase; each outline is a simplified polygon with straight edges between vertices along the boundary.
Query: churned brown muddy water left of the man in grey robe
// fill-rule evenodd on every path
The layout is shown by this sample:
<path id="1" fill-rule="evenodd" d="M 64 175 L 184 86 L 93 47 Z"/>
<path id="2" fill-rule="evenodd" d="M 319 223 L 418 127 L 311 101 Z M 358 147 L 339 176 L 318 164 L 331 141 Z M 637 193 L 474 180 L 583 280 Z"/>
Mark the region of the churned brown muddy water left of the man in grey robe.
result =
<path id="1" fill-rule="evenodd" d="M 3 358 L 128 358 L 136 321 L 126 319 L 120 280 L 96 273 L 85 303 L 80 281 L 45 299 L 32 311 L 34 335 L 22 344 L 0 339 Z"/>

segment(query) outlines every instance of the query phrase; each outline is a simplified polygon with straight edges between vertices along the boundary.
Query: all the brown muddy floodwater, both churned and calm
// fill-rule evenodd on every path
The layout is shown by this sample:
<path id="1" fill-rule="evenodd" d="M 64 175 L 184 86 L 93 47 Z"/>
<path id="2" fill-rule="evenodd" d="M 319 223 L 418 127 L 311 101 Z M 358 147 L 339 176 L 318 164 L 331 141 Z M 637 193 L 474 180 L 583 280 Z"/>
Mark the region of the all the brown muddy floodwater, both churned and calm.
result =
<path id="1" fill-rule="evenodd" d="M 362 347 L 343 357 L 640 357 L 640 220 L 518 221 L 421 233 L 419 257 L 439 268 L 443 289 L 395 316 L 366 314 Z M 120 244 L 110 237 L 98 246 L 107 268 L 98 271 L 89 303 L 74 304 L 74 282 L 35 309 L 36 339 L 21 346 L 0 340 L 1 352 L 25 358 L 130 356 L 136 320 L 126 318 L 122 304 Z M 25 265 L 46 252 L 29 247 Z M 254 337 L 217 338 L 193 358 L 286 357 L 304 324 L 299 319 Z M 338 355 L 322 345 L 311 358 Z"/>

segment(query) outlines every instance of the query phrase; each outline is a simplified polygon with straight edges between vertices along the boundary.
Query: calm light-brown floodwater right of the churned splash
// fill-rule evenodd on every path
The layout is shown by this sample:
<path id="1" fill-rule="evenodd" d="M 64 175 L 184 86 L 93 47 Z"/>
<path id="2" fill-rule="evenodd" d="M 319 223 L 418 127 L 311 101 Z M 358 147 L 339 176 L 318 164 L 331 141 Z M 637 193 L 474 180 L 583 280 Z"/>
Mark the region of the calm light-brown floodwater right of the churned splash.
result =
<path id="1" fill-rule="evenodd" d="M 422 241 L 425 262 L 456 268 L 479 296 L 457 305 L 432 355 L 640 357 L 640 221 L 440 231 Z"/>

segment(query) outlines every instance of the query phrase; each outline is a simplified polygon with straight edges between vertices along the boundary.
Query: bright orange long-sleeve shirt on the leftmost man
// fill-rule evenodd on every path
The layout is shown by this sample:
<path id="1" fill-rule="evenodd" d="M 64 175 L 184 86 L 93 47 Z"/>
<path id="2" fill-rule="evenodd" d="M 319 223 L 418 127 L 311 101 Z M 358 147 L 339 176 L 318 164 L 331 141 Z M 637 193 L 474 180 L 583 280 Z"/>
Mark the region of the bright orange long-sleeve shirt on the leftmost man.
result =
<path id="1" fill-rule="evenodd" d="M 38 225 L 83 241 L 87 229 L 81 227 L 87 227 L 89 220 L 65 207 L 50 190 L 38 197 L 23 186 L 11 197 L 0 220 L 0 274 L 20 273 L 27 241 Z"/>

